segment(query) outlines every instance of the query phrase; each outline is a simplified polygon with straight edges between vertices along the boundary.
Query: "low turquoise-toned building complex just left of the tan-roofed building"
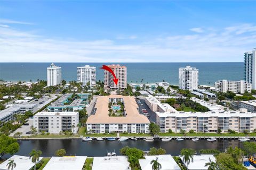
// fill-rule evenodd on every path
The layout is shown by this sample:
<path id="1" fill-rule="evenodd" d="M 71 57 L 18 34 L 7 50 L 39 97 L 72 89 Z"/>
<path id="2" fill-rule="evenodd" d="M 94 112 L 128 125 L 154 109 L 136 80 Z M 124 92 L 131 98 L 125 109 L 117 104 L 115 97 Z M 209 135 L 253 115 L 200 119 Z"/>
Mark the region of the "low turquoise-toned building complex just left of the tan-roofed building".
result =
<path id="1" fill-rule="evenodd" d="M 46 109 L 49 112 L 79 111 L 88 104 L 89 96 L 90 94 L 65 94 Z"/>

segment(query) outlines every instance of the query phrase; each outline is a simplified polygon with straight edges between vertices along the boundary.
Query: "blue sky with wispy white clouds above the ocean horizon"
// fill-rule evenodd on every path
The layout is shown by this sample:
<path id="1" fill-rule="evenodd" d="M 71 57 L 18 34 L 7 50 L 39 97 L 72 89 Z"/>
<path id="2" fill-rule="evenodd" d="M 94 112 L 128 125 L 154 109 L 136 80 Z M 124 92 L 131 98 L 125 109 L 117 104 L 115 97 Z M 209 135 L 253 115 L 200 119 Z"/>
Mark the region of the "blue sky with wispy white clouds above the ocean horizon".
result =
<path id="1" fill-rule="evenodd" d="M 0 1 L 1 62 L 243 62 L 256 1 Z"/>

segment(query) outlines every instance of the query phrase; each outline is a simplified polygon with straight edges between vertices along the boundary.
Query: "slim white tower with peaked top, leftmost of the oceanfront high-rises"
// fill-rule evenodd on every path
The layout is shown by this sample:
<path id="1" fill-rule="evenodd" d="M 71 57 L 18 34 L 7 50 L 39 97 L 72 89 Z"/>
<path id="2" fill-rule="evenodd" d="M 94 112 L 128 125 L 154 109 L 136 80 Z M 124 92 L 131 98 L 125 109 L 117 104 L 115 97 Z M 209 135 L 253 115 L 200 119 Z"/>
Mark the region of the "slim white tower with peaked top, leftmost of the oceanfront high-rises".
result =
<path id="1" fill-rule="evenodd" d="M 47 86 L 56 86 L 61 84 L 61 67 L 53 63 L 47 67 Z"/>

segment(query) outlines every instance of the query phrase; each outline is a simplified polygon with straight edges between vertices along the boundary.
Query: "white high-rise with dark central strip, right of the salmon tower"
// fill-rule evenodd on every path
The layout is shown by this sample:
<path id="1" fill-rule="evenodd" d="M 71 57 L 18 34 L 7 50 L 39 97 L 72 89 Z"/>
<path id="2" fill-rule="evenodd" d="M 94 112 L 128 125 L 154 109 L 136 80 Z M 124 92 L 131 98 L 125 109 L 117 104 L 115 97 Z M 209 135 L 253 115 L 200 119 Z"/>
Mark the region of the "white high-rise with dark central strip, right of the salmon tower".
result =
<path id="1" fill-rule="evenodd" d="M 179 68 L 179 89 L 194 90 L 198 88 L 198 69 L 196 67 Z"/>

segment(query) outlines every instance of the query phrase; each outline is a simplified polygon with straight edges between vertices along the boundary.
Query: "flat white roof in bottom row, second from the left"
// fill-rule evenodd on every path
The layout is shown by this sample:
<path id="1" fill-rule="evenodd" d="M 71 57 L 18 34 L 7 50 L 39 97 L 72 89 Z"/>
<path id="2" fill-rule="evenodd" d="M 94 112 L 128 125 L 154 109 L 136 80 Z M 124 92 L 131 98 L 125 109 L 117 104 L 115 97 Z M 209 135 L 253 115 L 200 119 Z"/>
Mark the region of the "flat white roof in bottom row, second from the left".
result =
<path id="1" fill-rule="evenodd" d="M 87 156 L 52 157 L 43 170 L 82 170 Z"/>

